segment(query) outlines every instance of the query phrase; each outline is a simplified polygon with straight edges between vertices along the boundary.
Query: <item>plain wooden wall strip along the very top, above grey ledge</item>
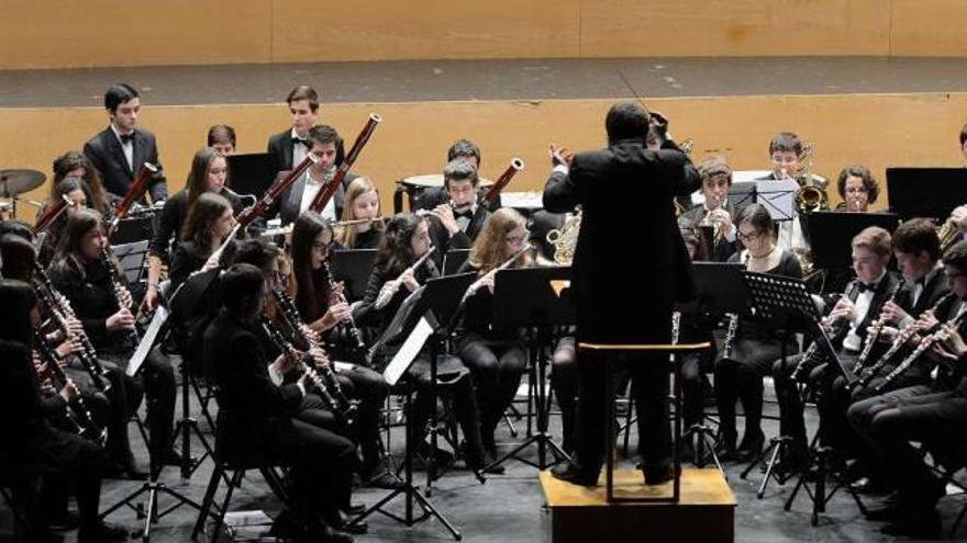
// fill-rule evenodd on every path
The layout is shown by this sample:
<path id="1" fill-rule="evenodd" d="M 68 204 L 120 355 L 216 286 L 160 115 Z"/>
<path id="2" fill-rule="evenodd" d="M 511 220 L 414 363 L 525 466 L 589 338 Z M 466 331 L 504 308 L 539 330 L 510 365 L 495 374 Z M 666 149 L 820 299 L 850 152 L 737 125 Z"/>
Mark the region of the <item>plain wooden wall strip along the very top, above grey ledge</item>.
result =
<path id="1" fill-rule="evenodd" d="M 967 55 L 963 0 L 4 0 L 2 15 L 0 69 Z"/>

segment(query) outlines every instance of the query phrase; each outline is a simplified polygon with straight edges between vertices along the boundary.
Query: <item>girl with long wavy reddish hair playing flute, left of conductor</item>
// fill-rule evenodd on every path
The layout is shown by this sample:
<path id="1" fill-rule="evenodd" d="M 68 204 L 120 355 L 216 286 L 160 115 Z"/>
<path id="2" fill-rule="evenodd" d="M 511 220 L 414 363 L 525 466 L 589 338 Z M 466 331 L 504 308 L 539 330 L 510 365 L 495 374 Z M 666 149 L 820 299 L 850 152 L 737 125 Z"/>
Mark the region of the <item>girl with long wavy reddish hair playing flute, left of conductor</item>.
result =
<path id="1" fill-rule="evenodd" d="M 519 330 L 493 329 L 493 281 L 497 269 L 526 246 L 529 233 L 525 226 L 526 219 L 515 210 L 498 210 L 484 223 L 484 229 L 460 269 L 460 273 L 477 272 L 482 287 L 466 301 L 457 327 L 456 351 L 474 376 L 484 449 L 494 459 L 497 442 L 493 432 L 516 395 L 527 358 Z M 509 268 L 526 268 L 532 261 L 525 253 L 510 262 Z"/>

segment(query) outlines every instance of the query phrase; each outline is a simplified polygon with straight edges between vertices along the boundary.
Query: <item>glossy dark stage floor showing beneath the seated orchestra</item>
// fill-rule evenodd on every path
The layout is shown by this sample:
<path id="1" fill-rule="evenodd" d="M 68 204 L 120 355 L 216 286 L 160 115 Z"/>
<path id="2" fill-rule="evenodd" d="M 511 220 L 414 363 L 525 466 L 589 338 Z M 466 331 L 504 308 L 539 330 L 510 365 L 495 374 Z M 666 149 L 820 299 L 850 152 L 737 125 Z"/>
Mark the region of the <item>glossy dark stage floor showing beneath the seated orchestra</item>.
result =
<path id="1" fill-rule="evenodd" d="M 770 387 L 767 387 L 767 391 L 769 389 Z M 767 414 L 775 414 L 775 404 L 767 405 Z M 810 408 L 808 416 L 808 426 L 810 432 L 813 432 L 816 419 L 812 408 Z M 552 430 L 556 435 L 559 435 L 559 418 L 552 417 Z M 204 423 L 202 427 L 205 427 Z M 519 421 L 516 428 L 523 433 L 525 423 Z M 765 431 L 766 435 L 775 435 L 778 431 L 778 425 L 767 420 Z M 132 435 L 134 435 L 133 429 Z M 133 438 L 133 440 L 136 449 L 135 455 L 138 459 L 145 459 L 141 439 Z M 498 440 L 502 442 L 502 449 L 510 446 L 515 441 L 510 437 L 507 426 L 500 428 Z M 634 442 L 633 433 L 632 443 Z M 401 429 L 393 431 L 391 444 L 397 454 L 402 453 Z M 197 443 L 194 450 L 200 451 Z M 532 448 L 527 455 L 532 460 L 536 460 L 536 448 Z M 791 511 L 787 512 L 782 509 L 786 498 L 792 490 L 792 483 L 787 483 L 785 486 L 770 484 L 765 498 L 758 500 L 755 493 L 762 474 L 756 471 L 748 480 L 742 480 L 738 478 L 738 473 L 743 467 L 726 466 L 729 484 L 738 501 L 735 511 L 735 541 L 737 542 L 912 541 L 882 536 L 879 533 L 881 524 L 864 520 L 856 505 L 845 494 L 837 494 L 829 504 L 827 512 L 821 517 L 819 525 L 812 527 L 810 524 L 810 504 L 804 495 L 800 495 Z M 207 461 L 190 480 L 182 484 L 178 470 L 169 467 L 164 474 L 164 480 L 173 488 L 200 501 L 211 468 L 211 462 Z M 418 472 L 416 475 L 420 483 L 425 482 L 422 472 Z M 114 504 L 137 488 L 137 485 L 138 483 L 124 480 L 105 482 L 101 499 L 102 508 Z M 353 497 L 355 501 L 371 505 L 384 497 L 386 493 L 386 490 L 362 489 L 354 493 Z M 219 496 L 223 496 L 222 491 Z M 484 485 L 477 483 L 469 472 L 457 470 L 447 473 L 434 484 L 431 500 L 463 532 L 464 541 L 481 543 L 551 541 L 551 519 L 542 510 L 544 497 L 537 482 L 537 473 L 533 467 L 521 462 L 510 462 L 505 475 L 491 476 Z M 876 507 L 879 502 L 875 498 L 865 498 L 865 501 L 868 507 Z M 945 534 L 965 502 L 967 500 L 964 495 L 951 495 L 941 500 L 940 511 Z M 168 499 L 163 498 L 162 507 L 166 507 L 166 504 L 169 504 Z M 402 501 L 396 501 L 394 506 L 394 510 L 401 512 Z M 270 498 L 265 483 L 257 474 L 248 475 L 245 478 L 242 488 L 236 490 L 231 505 L 231 509 L 234 511 L 262 509 L 274 512 L 277 508 L 278 504 Z M 158 543 L 189 541 L 194 519 L 196 513 L 191 509 L 176 510 L 156 524 L 153 541 Z M 129 509 L 122 509 L 112 514 L 109 520 L 131 530 L 138 530 L 141 525 L 134 512 Z M 11 522 L 10 511 L 5 508 L 0 510 L 0 541 L 10 541 Z M 369 533 L 357 536 L 357 541 L 453 541 L 444 527 L 436 521 L 424 522 L 412 529 L 407 529 L 386 517 L 376 514 L 370 517 L 368 522 Z M 967 539 L 967 525 L 960 527 L 958 538 L 960 540 Z M 75 541 L 75 533 L 68 532 L 66 541 Z"/>

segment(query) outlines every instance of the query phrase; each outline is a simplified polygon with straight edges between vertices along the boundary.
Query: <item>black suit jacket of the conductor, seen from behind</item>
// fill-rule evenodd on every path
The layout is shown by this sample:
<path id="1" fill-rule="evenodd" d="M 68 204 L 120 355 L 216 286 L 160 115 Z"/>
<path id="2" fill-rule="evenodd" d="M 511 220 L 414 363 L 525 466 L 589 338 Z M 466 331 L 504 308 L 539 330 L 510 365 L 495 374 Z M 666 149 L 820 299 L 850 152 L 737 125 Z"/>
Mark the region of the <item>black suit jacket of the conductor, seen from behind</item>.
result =
<path id="1" fill-rule="evenodd" d="M 693 293 L 671 202 L 701 180 L 688 156 L 671 142 L 665 146 L 652 151 L 641 140 L 622 140 L 579 152 L 569 173 L 547 180 L 547 211 L 582 208 L 571 264 L 581 340 L 667 342 L 674 302 Z M 635 318 L 619 318 L 627 313 Z"/>

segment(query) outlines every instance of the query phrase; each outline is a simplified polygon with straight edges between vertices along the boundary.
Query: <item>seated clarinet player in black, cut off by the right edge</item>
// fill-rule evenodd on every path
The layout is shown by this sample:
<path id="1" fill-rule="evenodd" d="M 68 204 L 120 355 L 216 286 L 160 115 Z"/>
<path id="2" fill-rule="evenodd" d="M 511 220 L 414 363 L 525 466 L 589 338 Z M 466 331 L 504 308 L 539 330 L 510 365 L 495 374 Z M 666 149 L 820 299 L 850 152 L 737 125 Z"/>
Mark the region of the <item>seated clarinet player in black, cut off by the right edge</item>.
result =
<path id="1" fill-rule="evenodd" d="M 899 490 L 892 507 L 871 511 L 874 519 L 892 521 L 882 531 L 893 535 L 934 538 L 940 532 L 935 505 L 946 494 L 946 483 L 924 465 L 910 441 L 923 443 L 935 460 L 953 470 L 964 465 L 967 450 L 962 339 L 967 335 L 967 242 L 952 247 L 943 263 L 951 303 L 927 312 L 921 318 L 921 333 L 913 339 L 924 359 L 918 362 L 935 366 L 935 372 L 925 383 L 857 401 L 848 411 L 849 423 L 870 445 L 878 474 Z"/>

